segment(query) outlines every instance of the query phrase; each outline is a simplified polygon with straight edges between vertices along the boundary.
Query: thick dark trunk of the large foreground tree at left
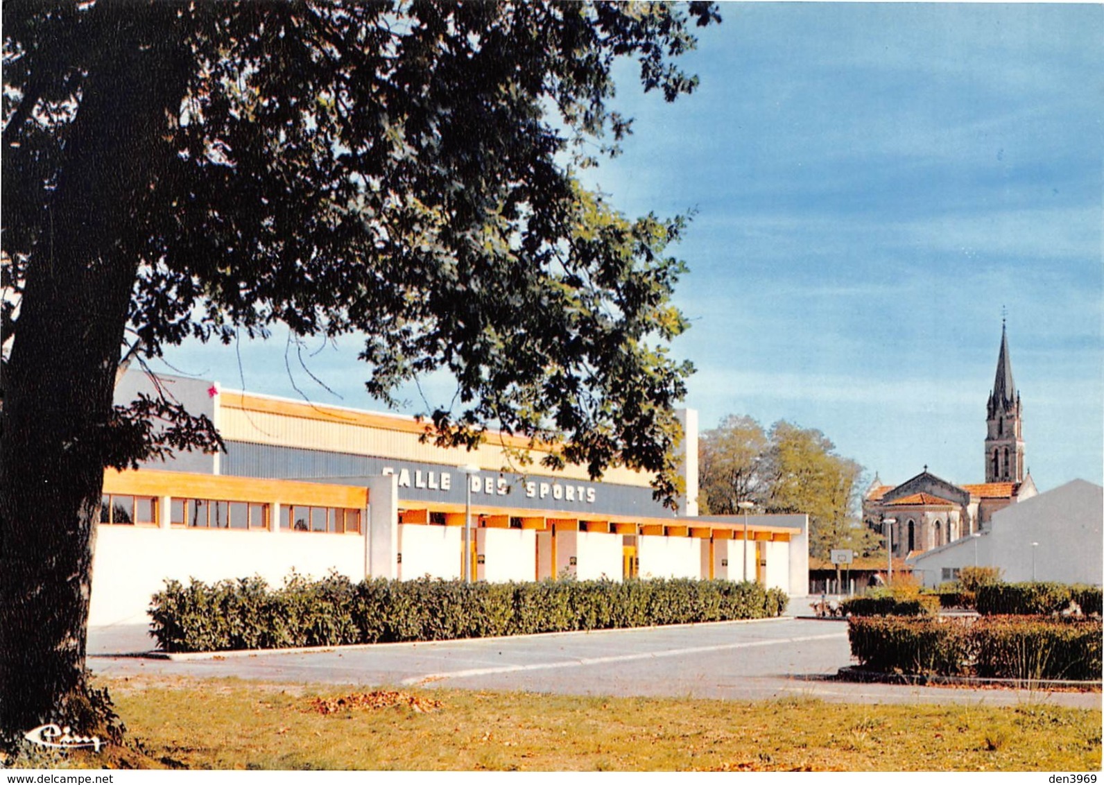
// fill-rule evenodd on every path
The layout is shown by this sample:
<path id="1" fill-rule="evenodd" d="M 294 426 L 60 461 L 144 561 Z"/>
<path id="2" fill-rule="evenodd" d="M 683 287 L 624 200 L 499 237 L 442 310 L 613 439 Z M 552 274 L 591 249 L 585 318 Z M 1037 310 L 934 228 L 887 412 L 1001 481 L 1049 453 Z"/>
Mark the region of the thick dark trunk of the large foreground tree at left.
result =
<path id="1" fill-rule="evenodd" d="M 151 22 L 142 8 L 97 3 L 92 13 L 103 14 L 114 45 L 83 85 L 4 379 L 0 735 L 9 740 L 50 721 L 103 730 L 86 726 L 102 712 L 86 689 L 85 637 L 115 372 L 138 267 L 121 236 L 140 234 L 119 224 L 141 222 L 166 110 L 182 91 L 155 60 L 164 52 L 140 45 Z"/>

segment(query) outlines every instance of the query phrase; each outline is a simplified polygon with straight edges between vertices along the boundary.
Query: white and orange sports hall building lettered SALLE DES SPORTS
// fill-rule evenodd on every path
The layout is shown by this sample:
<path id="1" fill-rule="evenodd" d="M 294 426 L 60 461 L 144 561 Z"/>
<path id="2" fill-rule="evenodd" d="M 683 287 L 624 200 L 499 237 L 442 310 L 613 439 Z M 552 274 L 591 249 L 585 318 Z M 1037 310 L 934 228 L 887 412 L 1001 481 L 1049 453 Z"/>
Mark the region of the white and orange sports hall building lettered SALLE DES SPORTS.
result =
<path id="1" fill-rule="evenodd" d="M 159 376 L 226 445 L 137 470 L 108 470 L 89 623 L 145 623 L 166 579 L 335 570 L 480 581 L 691 577 L 754 580 L 804 595 L 806 516 L 698 517 L 697 415 L 681 413 L 687 499 L 652 500 L 649 476 L 623 467 L 592 481 L 582 467 L 518 465 L 526 439 L 488 434 L 477 450 L 422 442 L 412 417 L 224 390 Z M 129 402 L 152 382 L 128 373 Z M 688 501 L 689 499 L 689 501 Z"/>

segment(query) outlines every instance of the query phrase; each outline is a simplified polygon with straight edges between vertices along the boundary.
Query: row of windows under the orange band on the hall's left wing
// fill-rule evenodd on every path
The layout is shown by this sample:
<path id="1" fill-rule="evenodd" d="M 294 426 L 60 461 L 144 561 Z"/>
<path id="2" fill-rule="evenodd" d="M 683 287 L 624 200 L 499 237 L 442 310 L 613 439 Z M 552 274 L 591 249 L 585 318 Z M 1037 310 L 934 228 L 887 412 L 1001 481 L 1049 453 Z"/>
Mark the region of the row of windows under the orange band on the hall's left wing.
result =
<path id="1" fill-rule="evenodd" d="M 269 528 L 268 505 L 220 499 L 172 499 L 169 522 L 189 529 Z M 105 494 L 99 522 L 157 526 L 158 500 L 152 496 Z M 279 528 L 335 534 L 360 533 L 360 510 L 343 507 L 282 506 Z"/>

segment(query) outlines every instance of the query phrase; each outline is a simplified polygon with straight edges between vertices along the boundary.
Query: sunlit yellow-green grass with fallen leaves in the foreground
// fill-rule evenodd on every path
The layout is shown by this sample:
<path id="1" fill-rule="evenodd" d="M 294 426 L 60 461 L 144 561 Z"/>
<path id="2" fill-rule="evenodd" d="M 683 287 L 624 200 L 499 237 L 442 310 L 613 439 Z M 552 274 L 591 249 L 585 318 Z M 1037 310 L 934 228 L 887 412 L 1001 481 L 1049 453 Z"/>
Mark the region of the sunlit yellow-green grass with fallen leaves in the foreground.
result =
<path id="1" fill-rule="evenodd" d="M 1101 768 L 1101 711 L 100 679 L 131 749 L 91 765 L 522 771 Z M 340 699 L 346 699 L 341 701 Z"/>

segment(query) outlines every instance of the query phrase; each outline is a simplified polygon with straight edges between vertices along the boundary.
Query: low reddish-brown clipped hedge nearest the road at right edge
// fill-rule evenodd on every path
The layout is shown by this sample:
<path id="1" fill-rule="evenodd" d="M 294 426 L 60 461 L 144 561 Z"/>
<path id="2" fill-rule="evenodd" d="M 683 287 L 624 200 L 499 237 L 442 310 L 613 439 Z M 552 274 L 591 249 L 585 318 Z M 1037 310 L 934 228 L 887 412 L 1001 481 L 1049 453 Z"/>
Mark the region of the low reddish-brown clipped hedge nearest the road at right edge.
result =
<path id="1" fill-rule="evenodd" d="M 1101 679 L 1100 619 L 852 617 L 848 637 L 851 656 L 883 672 Z"/>

